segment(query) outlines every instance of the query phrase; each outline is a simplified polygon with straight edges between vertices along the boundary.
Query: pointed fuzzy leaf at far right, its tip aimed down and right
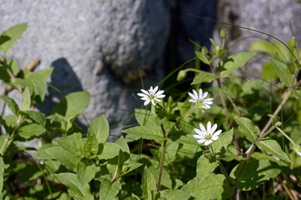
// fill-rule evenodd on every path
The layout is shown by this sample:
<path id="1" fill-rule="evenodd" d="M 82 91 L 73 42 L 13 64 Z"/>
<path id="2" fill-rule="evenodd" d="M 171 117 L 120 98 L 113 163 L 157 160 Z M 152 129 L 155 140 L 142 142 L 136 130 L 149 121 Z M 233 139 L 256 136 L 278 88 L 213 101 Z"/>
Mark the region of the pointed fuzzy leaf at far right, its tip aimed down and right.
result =
<path id="1" fill-rule="evenodd" d="M 285 160 L 289 163 L 292 161 L 289 159 L 286 153 L 284 153 L 276 140 L 273 140 L 269 137 L 261 139 L 259 142 L 256 142 L 258 148 L 265 151 L 269 155 L 276 156 L 282 160 Z"/>

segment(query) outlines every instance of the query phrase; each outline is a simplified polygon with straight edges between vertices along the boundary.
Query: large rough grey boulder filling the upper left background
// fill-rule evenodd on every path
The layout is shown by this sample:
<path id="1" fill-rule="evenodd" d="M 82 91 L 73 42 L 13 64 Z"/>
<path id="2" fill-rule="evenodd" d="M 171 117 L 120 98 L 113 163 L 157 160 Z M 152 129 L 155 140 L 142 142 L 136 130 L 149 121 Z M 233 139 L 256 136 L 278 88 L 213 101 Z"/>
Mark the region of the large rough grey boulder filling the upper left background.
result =
<path id="1" fill-rule="evenodd" d="M 88 122 L 81 116 L 78 123 L 86 126 L 105 114 L 113 124 L 129 113 L 112 107 L 132 110 L 140 103 L 133 103 L 131 92 L 106 91 L 132 87 L 125 82 L 139 88 L 138 67 L 151 77 L 147 81 L 151 85 L 159 78 L 160 73 L 153 71 L 162 64 L 170 29 L 169 7 L 163 0 L 0 0 L 0 4 L 0 32 L 28 22 L 7 58 L 22 69 L 35 58 L 41 59 L 36 70 L 54 66 L 50 82 L 63 94 L 48 88 L 46 101 L 38 106 L 43 112 L 49 114 L 64 95 L 86 90 L 92 95 L 84 111 Z M 10 96 L 20 102 L 17 91 Z"/>

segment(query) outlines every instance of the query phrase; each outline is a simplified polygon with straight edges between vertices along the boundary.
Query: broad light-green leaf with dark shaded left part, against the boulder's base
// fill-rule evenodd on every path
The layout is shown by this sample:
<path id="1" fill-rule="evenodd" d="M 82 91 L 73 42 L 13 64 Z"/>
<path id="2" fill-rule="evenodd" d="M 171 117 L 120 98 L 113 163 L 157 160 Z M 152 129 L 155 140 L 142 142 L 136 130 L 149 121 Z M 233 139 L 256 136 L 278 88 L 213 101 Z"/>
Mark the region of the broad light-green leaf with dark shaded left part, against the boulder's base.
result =
<path id="1" fill-rule="evenodd" d="M 89 105 L 90 94 L 86 91 L 72 92 L 66 95 L 61 102 L 54 107 L 52 114 L 58 113 L 73 121 Z"/>

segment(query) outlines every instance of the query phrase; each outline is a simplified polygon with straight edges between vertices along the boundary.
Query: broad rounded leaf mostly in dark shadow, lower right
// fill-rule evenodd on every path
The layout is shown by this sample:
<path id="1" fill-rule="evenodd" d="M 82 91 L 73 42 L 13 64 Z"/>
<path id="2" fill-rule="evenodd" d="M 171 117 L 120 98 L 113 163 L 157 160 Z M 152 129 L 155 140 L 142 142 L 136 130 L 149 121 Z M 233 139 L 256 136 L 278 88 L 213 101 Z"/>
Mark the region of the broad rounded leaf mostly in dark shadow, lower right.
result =
<path id="1" fill-rule="evenodd" d="M 235 179 L 242 165 L 243 163 L 240 163 L 232 169 L 230 178 Z M 280 172 L 279 165 L 270 160 L 248 161 L 237 180 L 236 187 L 240 190 L 254 190 L 270 178 L 275 178 Z"/>

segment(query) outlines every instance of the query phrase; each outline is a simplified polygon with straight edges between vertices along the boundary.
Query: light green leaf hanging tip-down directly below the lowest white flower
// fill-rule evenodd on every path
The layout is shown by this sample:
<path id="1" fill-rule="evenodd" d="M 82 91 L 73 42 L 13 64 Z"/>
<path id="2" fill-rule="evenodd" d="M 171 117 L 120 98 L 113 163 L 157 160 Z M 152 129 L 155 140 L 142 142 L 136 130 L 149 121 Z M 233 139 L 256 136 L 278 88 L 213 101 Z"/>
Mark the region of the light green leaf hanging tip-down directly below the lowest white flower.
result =
<path id="1" fill-rule="evenodd" d="M 214 169 L 219 166 L 219 160 L 216 157 L 206 158 L 204 155 L 197 159 L 197 176 L 196 176 L 196 187 L 198 187 Z"/>

